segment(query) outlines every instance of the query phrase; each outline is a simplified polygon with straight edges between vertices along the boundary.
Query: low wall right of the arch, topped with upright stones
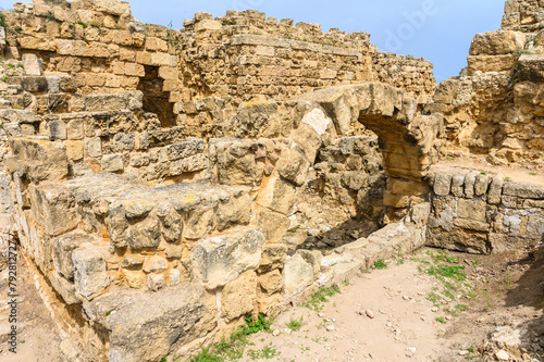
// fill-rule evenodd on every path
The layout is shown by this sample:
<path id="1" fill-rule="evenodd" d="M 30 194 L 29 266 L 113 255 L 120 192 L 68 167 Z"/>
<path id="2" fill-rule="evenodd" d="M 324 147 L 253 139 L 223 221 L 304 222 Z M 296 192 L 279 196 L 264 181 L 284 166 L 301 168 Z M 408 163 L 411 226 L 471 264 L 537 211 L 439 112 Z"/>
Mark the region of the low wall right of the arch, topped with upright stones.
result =
<path id="1" fill-rule="evenodd" d="M 429 246 L 500 253 L 543 241 L 544 186 L 502 174 L 434 167 Z"/>

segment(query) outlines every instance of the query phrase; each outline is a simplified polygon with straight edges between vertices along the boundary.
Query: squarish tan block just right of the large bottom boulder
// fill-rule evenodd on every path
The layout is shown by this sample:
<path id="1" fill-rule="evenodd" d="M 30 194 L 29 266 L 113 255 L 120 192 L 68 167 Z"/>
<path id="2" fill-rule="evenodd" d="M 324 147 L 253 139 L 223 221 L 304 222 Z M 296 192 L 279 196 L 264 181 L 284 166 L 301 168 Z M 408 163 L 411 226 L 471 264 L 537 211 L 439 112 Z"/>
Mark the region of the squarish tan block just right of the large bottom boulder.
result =
<path id="1" fill-rule="evenodd" d="M 252 313 L 257 298 L 257 275 L 248 271 L 225 285 L 221 292 L 221 316 L 234 321 Z"/>

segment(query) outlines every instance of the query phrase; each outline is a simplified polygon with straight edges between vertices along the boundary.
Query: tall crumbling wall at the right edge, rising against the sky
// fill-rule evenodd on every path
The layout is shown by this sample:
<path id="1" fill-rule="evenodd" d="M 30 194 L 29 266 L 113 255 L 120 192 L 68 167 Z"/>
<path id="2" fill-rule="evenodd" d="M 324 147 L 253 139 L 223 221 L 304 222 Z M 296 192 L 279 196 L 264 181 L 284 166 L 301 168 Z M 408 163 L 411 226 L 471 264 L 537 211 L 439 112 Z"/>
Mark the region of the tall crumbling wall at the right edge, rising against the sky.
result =
<path id="1" fill-rule="evenodd" d="M 444 113 L 450 148 L 542 165 L 544 12 L 536 0 L 509 0 L 505 13 L 502 30 L 474 36 L 468 67 L 441 83 L 431 109 Z"/>

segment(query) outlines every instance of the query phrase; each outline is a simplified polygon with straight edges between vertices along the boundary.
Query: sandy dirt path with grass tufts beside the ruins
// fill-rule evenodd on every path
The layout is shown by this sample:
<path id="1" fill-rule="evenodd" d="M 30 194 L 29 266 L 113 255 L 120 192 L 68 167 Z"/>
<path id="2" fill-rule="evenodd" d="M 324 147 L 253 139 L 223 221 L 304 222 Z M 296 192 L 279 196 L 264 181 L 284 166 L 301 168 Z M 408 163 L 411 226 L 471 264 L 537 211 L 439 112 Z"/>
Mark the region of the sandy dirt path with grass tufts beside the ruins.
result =
<path id="1" fill-rule="evenodd" d="M 341 286 L 320 313 L 282 314 L 272 326 L 280 335 L 251 336 L 244 361 L 495 361 L 500 350 L 509 361 L 544 361 L 544 258 L 535 258 L 425 249 L 391 261 Z M 442 267 L 452 277 L 430 275 Z M 287 329 L 300 317 L 299 330 Z"/>

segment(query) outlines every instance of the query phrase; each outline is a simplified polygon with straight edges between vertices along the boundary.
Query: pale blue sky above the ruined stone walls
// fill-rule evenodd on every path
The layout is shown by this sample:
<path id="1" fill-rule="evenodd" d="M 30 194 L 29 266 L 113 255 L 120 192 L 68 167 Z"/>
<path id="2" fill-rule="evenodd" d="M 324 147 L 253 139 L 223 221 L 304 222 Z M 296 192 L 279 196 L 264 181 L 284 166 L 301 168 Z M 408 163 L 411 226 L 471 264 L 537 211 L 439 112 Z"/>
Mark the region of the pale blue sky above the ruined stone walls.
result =
<path id="1" fill-rule="evenodd" d="M 255 9 L 268 16 L 320 23 L 323 30 L 368 32 L 382 51 L 423 57 L 440 82 L 467 65 L 477 33 L 500 28 L 504 0 L 134 0 L 134 16 L 181 28 L 197 11 L 223 16 L 228 9 Z M 3 9 L 12 2 L 0 0 Z"/>

